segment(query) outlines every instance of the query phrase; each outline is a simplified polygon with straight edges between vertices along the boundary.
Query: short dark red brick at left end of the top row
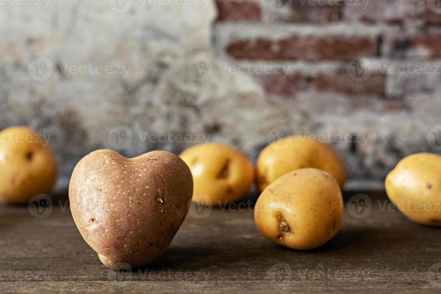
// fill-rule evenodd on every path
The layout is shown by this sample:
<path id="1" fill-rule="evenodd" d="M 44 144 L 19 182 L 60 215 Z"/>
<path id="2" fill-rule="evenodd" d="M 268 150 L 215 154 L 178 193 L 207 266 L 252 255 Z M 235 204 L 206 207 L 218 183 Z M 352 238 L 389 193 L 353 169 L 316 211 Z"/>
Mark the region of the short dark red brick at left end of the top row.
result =
<path id="1" fill-rule="evenodd" d="M 260 4 L 253 0 L 217 0 L 217 20 L 224 22 L 260 21 Z"/>

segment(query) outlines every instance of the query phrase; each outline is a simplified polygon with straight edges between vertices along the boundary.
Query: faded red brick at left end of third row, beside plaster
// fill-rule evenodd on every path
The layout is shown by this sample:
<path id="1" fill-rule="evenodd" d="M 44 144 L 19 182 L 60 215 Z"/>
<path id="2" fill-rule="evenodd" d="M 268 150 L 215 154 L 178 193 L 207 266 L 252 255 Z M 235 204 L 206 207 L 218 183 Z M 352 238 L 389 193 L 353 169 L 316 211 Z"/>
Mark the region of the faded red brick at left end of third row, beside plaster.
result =
<path id="1" fill-rule="evenodd" d="M 292 95 L 306 90 L 310 80 L 304 74 L 257 74 L 254 76 L 268 93 Z"/>

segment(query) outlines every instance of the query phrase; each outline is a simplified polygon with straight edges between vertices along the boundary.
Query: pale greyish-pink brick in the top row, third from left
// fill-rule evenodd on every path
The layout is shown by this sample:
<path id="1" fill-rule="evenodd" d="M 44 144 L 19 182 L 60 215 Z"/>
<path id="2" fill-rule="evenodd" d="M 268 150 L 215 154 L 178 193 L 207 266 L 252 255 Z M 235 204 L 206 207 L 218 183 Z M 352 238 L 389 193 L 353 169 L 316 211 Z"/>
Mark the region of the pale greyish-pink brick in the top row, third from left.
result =
<path id="1" fill-rule="evenodd" d="M 366 22 L 399 22 L 416 18 L 422 15 L 425 10 L 425 0 L 370 0 L 366 7 L 364 5 L 361 0 L 347 2 L 342 8 L 343 19 Z"/>

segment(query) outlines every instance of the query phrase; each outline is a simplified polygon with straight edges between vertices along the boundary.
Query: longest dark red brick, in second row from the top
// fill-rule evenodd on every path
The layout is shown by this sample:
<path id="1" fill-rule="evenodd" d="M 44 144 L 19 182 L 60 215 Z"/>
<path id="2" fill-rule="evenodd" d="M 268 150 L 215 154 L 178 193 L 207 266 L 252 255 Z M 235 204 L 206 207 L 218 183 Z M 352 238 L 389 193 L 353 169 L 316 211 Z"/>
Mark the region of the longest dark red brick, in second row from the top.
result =
<path id="1" fill-rule="evenodd" d="M 280 40 L 258 38 L 235 40 L 227 52 L 236 59 L 249 60 L 338 60 L 357 56 L 375 56 L 377 40 L 370 36 L 299 36 Z"/>

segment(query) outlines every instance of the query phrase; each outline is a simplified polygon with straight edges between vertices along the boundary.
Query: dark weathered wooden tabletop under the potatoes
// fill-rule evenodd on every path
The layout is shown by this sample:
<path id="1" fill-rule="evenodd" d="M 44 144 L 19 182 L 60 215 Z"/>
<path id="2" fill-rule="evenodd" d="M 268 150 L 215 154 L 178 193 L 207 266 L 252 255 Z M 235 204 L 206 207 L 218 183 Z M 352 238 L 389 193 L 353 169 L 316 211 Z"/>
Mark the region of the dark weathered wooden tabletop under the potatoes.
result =
<path id="1" fill-rule="evenodd" d="M 310 251 L 267 240 L 248 209 L 192 211 L 160 260 L 128 272 L 101 264 L 65 200 L 42 219 L 0 205 L 0 293 L 441 293 L 441 231 L 391 211 L 385 194 L 367 194 L 371 212 L 354 214 L 351 199 L 340 232 Z"/>

